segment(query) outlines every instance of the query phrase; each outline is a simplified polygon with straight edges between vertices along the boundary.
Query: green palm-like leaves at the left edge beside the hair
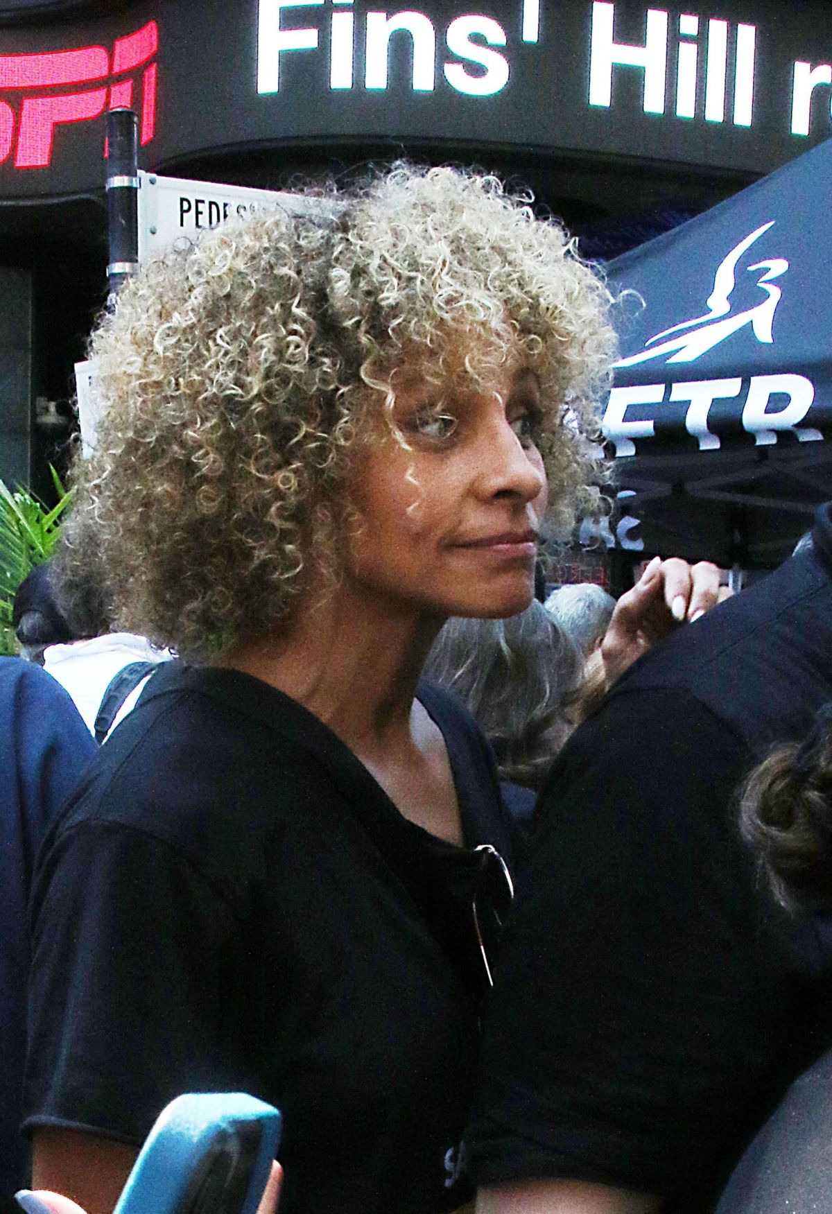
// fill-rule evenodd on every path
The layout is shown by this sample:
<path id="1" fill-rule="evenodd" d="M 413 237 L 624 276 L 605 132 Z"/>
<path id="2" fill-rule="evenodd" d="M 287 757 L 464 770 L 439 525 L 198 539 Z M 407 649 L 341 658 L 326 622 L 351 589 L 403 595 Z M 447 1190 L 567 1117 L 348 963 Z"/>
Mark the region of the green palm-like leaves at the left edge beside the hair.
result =
<path id="1" fill-rule="evenodd" d="M 58 504 L 47 510 L 28 489 L 12 492 L 0 481 L 0 654 L 17 653 L 12 603 L 21 582 L 49 556 L 61 532 L 61 516 L 72 501 L 51 469 Z"/>

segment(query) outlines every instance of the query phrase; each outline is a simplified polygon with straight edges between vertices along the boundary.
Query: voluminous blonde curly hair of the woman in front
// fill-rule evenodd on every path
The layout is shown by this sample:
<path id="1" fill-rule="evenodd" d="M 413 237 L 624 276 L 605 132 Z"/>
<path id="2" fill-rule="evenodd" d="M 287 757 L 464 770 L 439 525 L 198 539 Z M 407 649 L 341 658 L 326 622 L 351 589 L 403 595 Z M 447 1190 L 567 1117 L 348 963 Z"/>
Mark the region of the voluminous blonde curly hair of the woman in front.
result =
<path id="1" fill-rule="evenodd" d="M 476 381 L 520 353 L 555 521 L 598 481 L 610 296 L 562 228 L 453 169 L 396 165 L 322 203 L 148 263 L 92 336 L 102 420 L 68 548 L 95 537 L 119 623 L 192 658 L 285 620 L 312 566 L 336 575 L 351 450 L 407 447 L 396 369 L 441 381 L 462 348 Z"/>

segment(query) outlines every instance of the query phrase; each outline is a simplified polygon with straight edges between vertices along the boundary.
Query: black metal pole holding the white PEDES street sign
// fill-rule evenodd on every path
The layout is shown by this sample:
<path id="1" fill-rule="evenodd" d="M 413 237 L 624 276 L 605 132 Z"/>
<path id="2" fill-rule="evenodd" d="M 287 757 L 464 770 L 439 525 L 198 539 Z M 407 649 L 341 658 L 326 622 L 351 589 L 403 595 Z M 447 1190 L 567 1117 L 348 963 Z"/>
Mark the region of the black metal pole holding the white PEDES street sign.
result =
<path id="1" fill-rule="evenodd" d="M 138 268 L 138 117 L 132 109 L 107 114 L 107 236 L 112 304 Z"/>

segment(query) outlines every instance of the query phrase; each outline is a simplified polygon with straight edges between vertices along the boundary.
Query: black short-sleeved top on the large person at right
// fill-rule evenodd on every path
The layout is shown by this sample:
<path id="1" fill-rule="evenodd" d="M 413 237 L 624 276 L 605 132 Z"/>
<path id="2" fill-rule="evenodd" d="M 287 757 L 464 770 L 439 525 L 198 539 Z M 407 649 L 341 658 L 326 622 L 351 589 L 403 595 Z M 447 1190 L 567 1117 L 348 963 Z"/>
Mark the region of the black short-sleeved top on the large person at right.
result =
<path id="1" fill-rule="evenodd" d="M 820 1049 L 827 954 L 766 896 L 732 799 L 832 694 L 828 506 L 814 540 L 636 663 L 561 753 L 486 1019 L 477 1182 L 701 1212 Z"/>

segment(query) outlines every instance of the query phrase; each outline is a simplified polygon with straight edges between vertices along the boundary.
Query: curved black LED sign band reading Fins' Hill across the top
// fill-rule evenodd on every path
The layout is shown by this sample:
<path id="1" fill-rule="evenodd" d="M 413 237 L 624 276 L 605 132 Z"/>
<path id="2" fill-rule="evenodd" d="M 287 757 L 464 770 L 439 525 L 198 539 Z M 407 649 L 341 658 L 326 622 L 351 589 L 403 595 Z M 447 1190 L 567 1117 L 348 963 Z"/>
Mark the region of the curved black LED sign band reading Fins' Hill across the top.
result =
<path id="1" fill-rule="evenodd" d="M 0 30 L 0 195 L 223 148 L 513 144 L 760 172 L 832 135 L 828 0 L 128 0 Z M 294 154 L 294 153 L 293 153 Z"/>

